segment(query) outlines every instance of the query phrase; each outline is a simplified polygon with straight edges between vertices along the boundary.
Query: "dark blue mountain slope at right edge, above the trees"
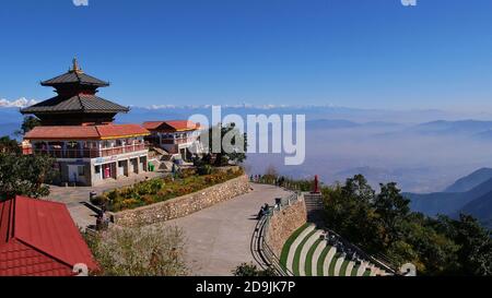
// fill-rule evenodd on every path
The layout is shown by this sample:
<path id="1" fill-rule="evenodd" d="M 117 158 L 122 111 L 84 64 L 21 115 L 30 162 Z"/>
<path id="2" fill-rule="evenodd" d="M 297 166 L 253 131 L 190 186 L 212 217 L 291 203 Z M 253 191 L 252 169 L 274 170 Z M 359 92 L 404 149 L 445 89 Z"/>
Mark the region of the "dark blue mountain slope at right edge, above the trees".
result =
<path id="1" fill-rule="evenodd" d="M 444 214 L 457 217 L 470 214 L 492 228 L 492 169 L 481 168 L 458 179 L 443 192 L 405 193 L 411 208 L 430 216 Z"/>

